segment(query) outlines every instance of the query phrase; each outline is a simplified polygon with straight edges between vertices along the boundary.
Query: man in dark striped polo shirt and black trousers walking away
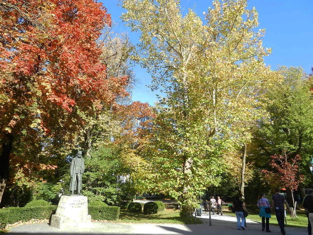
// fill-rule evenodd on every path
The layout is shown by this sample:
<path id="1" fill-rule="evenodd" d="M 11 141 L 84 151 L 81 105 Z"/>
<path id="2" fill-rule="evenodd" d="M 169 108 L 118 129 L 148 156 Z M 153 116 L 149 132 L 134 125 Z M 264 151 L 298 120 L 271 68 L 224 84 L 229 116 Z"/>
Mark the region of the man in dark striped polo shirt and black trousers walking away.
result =
<path id="1" fill-rule="evenodd" d="M 280 189 L 275 189 L 275 194 L 272 196 L 272 208 L 275 210 L 276 219 L 278 222 L 278 225 L 280 227 L 280 232 L 285 235 L 285 207 L 284 203 L 286 204 L 286 207 L 288 210 L 290 210 L 290 207 L 288 205 L 288 202 L 286 201 L 285 197 L 279 193 Z"/>

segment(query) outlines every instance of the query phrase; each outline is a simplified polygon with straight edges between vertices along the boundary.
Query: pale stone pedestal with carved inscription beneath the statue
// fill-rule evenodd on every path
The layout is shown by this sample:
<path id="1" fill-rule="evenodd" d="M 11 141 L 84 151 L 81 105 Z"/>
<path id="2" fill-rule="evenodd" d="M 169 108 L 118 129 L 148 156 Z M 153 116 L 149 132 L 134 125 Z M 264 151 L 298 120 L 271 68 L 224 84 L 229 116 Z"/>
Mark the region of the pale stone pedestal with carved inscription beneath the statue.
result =
<path id="1" fill-rule="evenodd" d="M 91 216 L 88 215 L 86 196 L 61 196 L 57 211 L 51 218 L 51 227 L 89 227 L 90 223 Z"/>

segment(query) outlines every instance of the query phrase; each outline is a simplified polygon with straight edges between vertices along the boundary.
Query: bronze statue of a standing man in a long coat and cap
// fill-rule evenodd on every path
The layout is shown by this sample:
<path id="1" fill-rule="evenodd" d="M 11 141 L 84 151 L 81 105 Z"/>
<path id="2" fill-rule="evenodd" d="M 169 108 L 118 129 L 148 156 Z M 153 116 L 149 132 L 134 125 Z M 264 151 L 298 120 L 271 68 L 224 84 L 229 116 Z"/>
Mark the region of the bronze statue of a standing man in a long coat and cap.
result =
<path id="1" fill-rule="evenodd" d="M 71 180 L 69 183 L 69 191 L 74 194 L 74 190 L 77 190 L 77 194 L 81 195 L 81 175 L 85 171 L 84 159 L 81 157 L 82 151 L 77 151 L 77 156 L 72 158 L 71 165 L 69 166 L 69 174 L 71 175 Z"/>

